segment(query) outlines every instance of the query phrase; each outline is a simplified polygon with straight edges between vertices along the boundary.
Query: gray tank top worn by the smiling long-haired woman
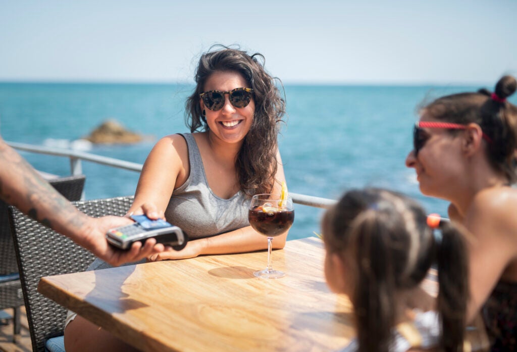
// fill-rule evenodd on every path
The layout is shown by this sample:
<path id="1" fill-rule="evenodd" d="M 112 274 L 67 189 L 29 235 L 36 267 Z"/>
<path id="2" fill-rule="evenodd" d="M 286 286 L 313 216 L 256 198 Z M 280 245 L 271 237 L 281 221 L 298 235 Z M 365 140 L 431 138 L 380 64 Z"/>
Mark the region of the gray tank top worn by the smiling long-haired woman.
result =
<path id="1" fill-rule="evenodd" d="M 189 239 L 219 235 L 249 226 L 251 198 L 242 191 L 223 199 L 208 186 L 201 154 L 191 133 L 180 134 L 187 141 L 190 175 L 175 189 L 165 218 L 187 233 Z"/>

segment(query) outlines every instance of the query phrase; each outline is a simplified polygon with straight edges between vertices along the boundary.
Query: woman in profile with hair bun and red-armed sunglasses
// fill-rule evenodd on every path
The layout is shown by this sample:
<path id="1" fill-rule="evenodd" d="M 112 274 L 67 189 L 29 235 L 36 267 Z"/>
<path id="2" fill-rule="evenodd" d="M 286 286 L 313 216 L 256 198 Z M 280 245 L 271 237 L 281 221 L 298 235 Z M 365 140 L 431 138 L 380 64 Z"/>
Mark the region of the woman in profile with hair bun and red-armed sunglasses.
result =
<path id="1" fill-rule="evenodd" d="M 494 93 L 439 98 L 421 110 L 406 165 L 425 195 L 451 202 L 449 217 L 476 238 L 468 243 L 467 320 L 481 312 L 491 348 L 517 350 L 517 107 L 512 76 Z"/>

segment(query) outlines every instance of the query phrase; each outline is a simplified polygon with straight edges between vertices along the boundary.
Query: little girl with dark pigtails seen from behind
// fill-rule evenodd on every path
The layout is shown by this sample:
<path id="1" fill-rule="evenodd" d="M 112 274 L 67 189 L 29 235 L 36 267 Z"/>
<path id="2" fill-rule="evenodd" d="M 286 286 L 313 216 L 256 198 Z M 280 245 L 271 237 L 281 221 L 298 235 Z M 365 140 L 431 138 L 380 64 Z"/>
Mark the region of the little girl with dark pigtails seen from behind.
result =
<path id="1" fill-rule="evenodd" d="M 349 191 L 325 213 L 327 284 L 351 299 L 357 327 L 342 352 L 463 350 L 466 246 L 454 226 L 438 223 L 440 233 L 414 201 L 381 189 Z M 420 288 L 433 263 L 436 301 Z"/>

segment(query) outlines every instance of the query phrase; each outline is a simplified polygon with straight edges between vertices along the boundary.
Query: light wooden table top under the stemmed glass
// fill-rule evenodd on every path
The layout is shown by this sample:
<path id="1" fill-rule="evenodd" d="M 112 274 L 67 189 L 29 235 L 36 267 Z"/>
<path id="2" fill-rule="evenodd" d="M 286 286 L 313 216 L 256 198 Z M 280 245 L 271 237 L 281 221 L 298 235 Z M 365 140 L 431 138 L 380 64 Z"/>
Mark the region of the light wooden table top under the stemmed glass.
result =
<path id="1" fill-rule="evenodd" d="M 352 307 L 329 292 L 323 243 L 211 255 L 41 279 L 38 291 L 143 351 L 332 351 L 354 335 Z"/>

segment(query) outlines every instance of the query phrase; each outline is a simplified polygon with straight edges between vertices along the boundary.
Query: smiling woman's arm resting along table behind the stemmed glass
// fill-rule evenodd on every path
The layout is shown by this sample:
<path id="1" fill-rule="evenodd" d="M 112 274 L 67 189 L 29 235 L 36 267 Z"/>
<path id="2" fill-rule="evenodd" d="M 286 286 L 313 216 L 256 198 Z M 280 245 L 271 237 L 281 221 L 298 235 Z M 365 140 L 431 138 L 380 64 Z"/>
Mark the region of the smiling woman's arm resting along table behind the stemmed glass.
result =
<path id="1" fill-rule="evenodd" d="M 278 169 L 272 193 L 280 194 L 282 182 L 285 182 L 280 152 L 277 152 L 277 162 Z M 275 237 L 272 241 L 273 248 L 284 248 L 286 238 L 287 233 Z M 244 253 L 263 249 L 267 249 L 266 237 L 258 234 L 251 226 L 247 226 L 221 235 L 189 241 L 187 247 L 179 252 L 172 250 L 164 251 L 159 253 L 159 255 L 151 256 L 149 260 L 160 261 L 163 259 L 184 259 L 202 254 Z"/>

